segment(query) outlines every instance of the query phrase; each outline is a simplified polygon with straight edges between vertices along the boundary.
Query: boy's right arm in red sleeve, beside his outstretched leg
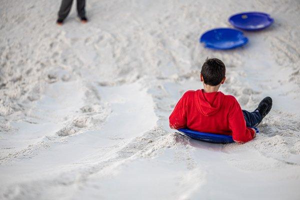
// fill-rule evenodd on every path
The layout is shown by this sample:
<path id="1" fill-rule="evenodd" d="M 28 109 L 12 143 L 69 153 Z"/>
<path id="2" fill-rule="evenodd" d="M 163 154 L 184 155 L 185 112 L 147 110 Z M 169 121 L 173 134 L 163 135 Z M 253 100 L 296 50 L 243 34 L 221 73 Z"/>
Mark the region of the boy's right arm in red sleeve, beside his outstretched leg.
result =
<path id="1" fill-rule="evenodd" d="M 238 143 L 247 142 L 255 137 L 255 131 L 252 128 L 246 127 L 244 116 L 236 100 L 231 107 L 228 119 L 234 141 Z"/>

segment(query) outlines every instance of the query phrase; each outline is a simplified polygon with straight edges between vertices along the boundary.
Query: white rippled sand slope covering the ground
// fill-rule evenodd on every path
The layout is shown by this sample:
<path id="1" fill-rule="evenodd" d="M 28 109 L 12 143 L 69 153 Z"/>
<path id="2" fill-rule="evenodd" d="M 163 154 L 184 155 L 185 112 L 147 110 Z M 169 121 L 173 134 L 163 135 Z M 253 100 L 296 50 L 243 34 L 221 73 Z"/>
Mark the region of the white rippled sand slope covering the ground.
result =
<path id="1" fill-rule="evenodd" d="M 300 3 L 296 0 L 87 0 L 62 26 L 59 0 L 0 0 L 0 199 L 299 199 Z M 241 11 L 274 17 L 249 43 L 198 42 Z M 169 129 L 204 59 L 220 88 L 273 108 L 244 144 Z"/>

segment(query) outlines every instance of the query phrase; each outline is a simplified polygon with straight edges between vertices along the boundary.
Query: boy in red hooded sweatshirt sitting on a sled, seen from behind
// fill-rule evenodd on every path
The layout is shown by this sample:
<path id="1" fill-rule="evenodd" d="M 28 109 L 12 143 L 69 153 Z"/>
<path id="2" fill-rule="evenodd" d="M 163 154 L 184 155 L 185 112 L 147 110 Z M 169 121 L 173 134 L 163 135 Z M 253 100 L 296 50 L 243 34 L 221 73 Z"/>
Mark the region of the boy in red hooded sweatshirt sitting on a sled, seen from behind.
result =
<path id="1" fill-rule="evenodd" d="M 205 60 L 200 79 L 203 89 L 183 94 L 169 116 L 170 127 L 232 135 L 239 143 L 253 139 L 256 134 L 251 127 L 257 126 L 270 111 L 272 99 L 263 98 L 253 112 L 241 110 L 233 96 L 218 91 L 226 77 L 225 65 L 217 58 Z"/>

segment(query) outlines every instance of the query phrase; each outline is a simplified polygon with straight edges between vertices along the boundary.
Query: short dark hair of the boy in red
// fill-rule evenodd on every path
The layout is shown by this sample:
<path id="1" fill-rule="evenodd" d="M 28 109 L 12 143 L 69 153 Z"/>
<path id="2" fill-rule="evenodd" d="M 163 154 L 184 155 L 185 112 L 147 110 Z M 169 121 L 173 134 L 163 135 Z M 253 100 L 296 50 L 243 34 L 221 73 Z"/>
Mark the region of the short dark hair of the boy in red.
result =
<path id="1" fill-rule="evenodd" d="M 201 68 L 205 84 L 218 85 L 225 77 L 225 64 L 217 58 L 206 58 Z"/>

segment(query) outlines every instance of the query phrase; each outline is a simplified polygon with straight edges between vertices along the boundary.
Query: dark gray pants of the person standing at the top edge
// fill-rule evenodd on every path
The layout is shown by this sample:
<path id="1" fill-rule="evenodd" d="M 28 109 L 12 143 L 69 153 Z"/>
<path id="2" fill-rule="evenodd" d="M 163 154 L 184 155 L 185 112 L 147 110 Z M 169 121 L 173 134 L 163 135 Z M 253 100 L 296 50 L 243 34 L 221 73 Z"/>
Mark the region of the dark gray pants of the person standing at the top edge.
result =
<path id="1" fill-rule="evenodd" d="M 71 10 L 73 0 L 61 0 L 61 5 L 58 11 L 58 19 L 65 19 L 68 13 Z M 78 16 L 84 17 L 85 16 L 85 0 L 77 0 L 77 12 Z"/>

